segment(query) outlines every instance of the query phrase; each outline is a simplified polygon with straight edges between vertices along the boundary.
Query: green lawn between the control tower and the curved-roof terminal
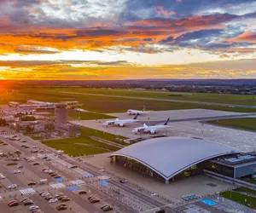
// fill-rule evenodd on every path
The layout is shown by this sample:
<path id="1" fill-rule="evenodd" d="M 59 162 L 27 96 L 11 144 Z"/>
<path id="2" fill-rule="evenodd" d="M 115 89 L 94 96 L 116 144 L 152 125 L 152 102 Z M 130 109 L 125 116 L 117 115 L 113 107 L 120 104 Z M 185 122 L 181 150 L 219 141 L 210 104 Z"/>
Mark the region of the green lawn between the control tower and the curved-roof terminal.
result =
<path id="1" fill-rule="evenodd" d="M 43 143 L 57 150 L 61 149 L 66 154 L 73 157 L 98 153 L 108 153 L 109 151 L 117 151 L 119 149 L 118 147 L 113 147 L 111 145 L 90 139 L 90 136 L 92 135 L 114 142 L 116 142 L 115 138 L 118 137 L 117 135 L 109 133 L 103 134 L 103 132 L 99 130 L 81 128 L 80 137 L 43 141 Z M 125 139 L 124 137 L 122 138 Z"/>

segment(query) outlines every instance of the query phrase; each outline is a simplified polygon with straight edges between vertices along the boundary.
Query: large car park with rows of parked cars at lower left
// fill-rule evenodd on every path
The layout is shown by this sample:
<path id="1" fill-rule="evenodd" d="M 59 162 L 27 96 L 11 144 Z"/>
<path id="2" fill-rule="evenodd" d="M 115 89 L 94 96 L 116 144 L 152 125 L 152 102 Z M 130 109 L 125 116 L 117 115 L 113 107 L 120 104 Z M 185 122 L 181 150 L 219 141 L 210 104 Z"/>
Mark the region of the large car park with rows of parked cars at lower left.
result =
<path id="1" fill-rule="evenodd" d="M 29 210 L 29 206 L 34 205 L 36 206 L 35 208 L 42 210 L 42 212 L 57 212 L 56 207 L 63 204 L 61 200 L 56 200 L 55 202 L 55 194 L 57 193 L 64 193 L 70 199 L 64 202 L 64 204 L 67 204 L 67 209 L 64 208 L 65 210 L 61 210 L 61 212 L 103 212 L 100 207 L 103 204 L 109 205 L 103 201 L 102 196 L 96 190 L 87 186 L 86 182 L 90 181 L 90 178 L 86 179 L 84 177 L 84 180 L 79 180 L 78 176 L 76 176 L 78 172 L 69 168 L 64 170 L 64 168 L 54 163 L 54 158 L 45 158 L 45 156 L 50 156 L 51 154 L 45 154 L 46 150 L 39 147 L 35 148 L 32 141 L 10 141 L 3 137 L 1 137 L 1 141 L 0 153 L 4 153 L 4 155 L 0 157 L 1 175 L 3 176 L 2 180 L 0 180 L 2 197 L 0 204 L 3 206 L 4 213 L 32 212 Z M 21 147 L 24 144 L 29 148 Z M 31 152 L 36 149 L 38 152 Z M 13 156 L 13 153 L 17 152 L 17 150 L 20 150 L 19 156 Z M 44 152 L 41 152 L 42 150 Z M 49 168 L 49 173 L 44 172 L 46 168 Z M 67 170 L 72 172 L 68 173 Z M 58 178 L 50 176 L 52 173 Z M 47 181 L 41 182 L 42 180 Z M 28 186 L 32 182 L 35 185 Z M 81 190 L 87 193 L 79 194 Z M 49 201 L 41 197 L 39 195 L 40 192 L 49 192 L 50 195 L 53 195 L 53 200 L 51 200 L 53 203 L 49 203 Z M 90 204 L 88 200 L 90 195 L 95 195 L 99 202 Z M 27 206 L 23 204 L 21 201 L 25 198 L 29 199 L 32 204 Z M 8 206 L 7 204 L 11 201 L 13 203 L 16 201 L 18 205 Z M 111 206 L 111 208 L 116 210 L 116 206 Z M 109 211 L 113 212 L 113 210 Z"/>

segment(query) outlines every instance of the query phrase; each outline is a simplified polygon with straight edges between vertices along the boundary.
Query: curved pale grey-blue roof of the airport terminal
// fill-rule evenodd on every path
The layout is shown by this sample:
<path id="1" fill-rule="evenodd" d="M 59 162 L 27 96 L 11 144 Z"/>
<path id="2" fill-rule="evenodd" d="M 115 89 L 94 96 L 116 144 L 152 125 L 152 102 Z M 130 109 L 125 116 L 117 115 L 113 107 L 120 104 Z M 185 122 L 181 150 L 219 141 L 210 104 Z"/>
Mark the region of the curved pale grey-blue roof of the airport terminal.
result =
<path id="1" fill-rule="evenodd" d="M 211 141 L 187 137 L 160 137 L 135 143 L 111 154 L 132 158 L 169 180 L 192 165 L 226 154 L 241 153 Z"/>

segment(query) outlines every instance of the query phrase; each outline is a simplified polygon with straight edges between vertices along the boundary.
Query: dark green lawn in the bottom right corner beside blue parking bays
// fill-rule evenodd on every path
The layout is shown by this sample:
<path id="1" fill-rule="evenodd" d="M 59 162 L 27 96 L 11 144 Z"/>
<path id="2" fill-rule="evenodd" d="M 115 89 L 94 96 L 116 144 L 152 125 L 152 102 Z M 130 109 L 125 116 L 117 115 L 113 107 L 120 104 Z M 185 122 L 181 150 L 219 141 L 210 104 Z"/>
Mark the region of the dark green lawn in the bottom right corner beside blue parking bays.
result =
<path id="1" fill-rule="evenodd" d="M 256 198 L 248 197 L 247 195 L 236 193 L 233 191 L 226 191 L 224 193 L 220 193 L 220 195 L 226 199 L 230 199 L 239 204 L 244 204 L 247 207 L 256 210 Z"/>

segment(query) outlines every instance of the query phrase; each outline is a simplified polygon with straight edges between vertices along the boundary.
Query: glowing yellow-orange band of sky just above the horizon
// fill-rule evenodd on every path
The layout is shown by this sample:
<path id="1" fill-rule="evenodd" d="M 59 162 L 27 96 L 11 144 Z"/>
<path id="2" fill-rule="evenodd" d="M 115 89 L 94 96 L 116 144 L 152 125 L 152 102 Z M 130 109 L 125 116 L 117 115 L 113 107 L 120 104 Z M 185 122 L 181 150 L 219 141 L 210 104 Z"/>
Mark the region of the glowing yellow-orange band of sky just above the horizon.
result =
<path id="1" fill-rule="evenodd" d="M 71 62 L 71 61 L 69 61 Z M 11 65 L 11 61 L 8 61 Z M 97 66 L 73 67 L 53 61 L 20 61 L 0 72 L 6 79 L 140 79 L 140 78 L 253 78 L 256 60 L 230 60 L 169 66 Z M 20 63 L 23 63 L 20 64 Z M 34 66 L 26 66 L 34 63 Z M 44 64 L 45 63 L 45 64 Z M 52 64 L 51 64 L 52 63 Z M 76 61 L 76 63 L 79 63 Z M 7 62 L 0 61 L 1 66 Z M 222 68 L 224 67 L 224 68 Z"/>

